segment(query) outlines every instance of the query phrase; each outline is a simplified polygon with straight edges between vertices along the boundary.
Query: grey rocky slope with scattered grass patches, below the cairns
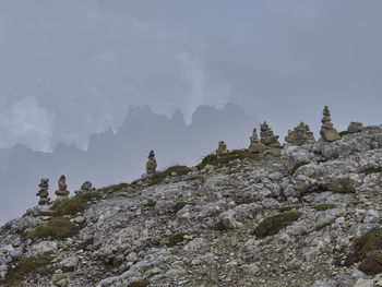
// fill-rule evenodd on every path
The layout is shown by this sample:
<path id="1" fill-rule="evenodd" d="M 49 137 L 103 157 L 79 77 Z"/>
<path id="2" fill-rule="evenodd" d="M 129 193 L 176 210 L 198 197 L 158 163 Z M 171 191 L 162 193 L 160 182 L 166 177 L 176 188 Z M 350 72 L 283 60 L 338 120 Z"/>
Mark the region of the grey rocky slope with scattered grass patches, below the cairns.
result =
<path id="1" fill-rule="evenodd" d="M 382 125 L 36 206 L 1 286 L 382 286 Z"/>

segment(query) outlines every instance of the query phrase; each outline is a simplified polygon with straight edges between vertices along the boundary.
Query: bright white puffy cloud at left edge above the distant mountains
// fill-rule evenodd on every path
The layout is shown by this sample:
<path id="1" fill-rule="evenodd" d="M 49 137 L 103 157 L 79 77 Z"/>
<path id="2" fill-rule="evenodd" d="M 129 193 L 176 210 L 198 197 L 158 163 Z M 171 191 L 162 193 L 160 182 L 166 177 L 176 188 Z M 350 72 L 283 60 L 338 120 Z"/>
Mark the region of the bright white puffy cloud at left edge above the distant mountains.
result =
<path id="1" fill-rule="evenodd" d="M 40 151 L 50 150 L 52 127 L 48 112 L 38 106 L 35 97 L 25 97 L 0 112 L 1 147 L 15 143 Z"/>

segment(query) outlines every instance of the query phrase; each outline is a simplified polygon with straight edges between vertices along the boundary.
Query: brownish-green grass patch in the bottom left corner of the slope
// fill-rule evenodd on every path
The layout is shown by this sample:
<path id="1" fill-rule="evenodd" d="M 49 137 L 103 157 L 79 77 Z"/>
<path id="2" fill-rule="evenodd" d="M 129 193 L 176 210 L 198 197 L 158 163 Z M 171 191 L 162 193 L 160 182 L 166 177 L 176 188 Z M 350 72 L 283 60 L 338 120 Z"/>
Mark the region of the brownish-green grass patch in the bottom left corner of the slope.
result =
<path id="1" fill-rule="evenodd" d="M 9 263 L 8 273 L 1 286 L 22 287 L 24 286 L 22 282 L 29 275 L 33 277 L 35 277 L 36 274 L 48 276 L 52 273 L 50 267 L 51 261 L 51 252 L 44 253 L 39 256 L 15 258 Z M 15 268 L 10 267 L 12 265 L 15 265 Z"/>

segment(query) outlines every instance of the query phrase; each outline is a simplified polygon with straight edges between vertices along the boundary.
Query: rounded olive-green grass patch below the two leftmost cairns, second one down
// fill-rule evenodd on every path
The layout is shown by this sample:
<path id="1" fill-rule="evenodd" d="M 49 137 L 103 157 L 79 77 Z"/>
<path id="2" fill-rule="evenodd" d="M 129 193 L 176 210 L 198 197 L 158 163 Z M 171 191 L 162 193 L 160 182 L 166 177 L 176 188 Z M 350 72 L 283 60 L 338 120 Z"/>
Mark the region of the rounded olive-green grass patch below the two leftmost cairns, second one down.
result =
<path id="1" fill-rule="evenodd" d="M 68 218 L 55 217 L 44 225 L 37 226 L 34 230 L 24 236 L 27 238 L 64 239 L 74 236 L 77 231 L 79 227 L 72 224 Z"/>

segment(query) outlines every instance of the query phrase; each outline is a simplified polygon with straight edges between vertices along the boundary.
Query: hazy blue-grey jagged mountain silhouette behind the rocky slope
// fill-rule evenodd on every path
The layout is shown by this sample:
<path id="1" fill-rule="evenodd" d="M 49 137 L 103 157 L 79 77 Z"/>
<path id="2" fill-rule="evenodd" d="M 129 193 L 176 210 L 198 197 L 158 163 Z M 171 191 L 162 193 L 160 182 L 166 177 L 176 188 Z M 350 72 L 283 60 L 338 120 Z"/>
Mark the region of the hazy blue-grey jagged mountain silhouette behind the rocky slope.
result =
<path id="1" fill-rule="evenodd" d="M 121 124 L 89 135 L 87 151 L 75 145 L 58 144 L 53 152 L 35 152 L 25 145 L 0 150 L 0 224 L 37 203 L 35 193 L 39 179 L 50 179 L 50 198 L 57 180 L 67 176 L 73 194 L 85 180 L 96 187 L 131 181 L 145 172 L 151 150 L 156 153 L 158 168 L 174 164 L 196 165 L 204 155 L 215 151 L 217 142 L 228 148 L 249 145 L 249 136 L 259 120 L 240 106 L 228 104 L 223 109 L 199 107 L 192 122 L 183 115 L 155 115 L 148 106 L 131 106 Z"/>

